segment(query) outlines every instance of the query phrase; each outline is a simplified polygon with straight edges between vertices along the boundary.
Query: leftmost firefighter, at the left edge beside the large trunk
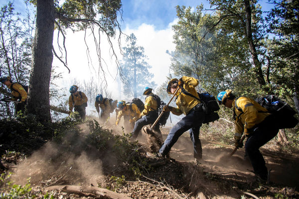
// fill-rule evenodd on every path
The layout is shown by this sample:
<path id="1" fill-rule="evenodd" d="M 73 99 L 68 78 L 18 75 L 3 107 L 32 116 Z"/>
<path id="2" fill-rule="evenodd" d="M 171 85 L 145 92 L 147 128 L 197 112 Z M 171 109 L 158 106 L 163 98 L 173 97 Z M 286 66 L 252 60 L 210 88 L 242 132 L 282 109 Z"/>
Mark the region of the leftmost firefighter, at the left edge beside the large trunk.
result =
<path id="1" fill-rule="evenodd" d="M 25 105 L 27 104 L 28 87 L 24 88 L 24 86 L 19 83 L 12 83 L 10 77 L 8 76 L 1 77 L 0 82 L 11 90 L 11 95 L 13 97 L 9 100 L 16 101 L 14 106 L 15 113 L 17 113 L 18 111 L 22 111 L 24 113 Z"/>

